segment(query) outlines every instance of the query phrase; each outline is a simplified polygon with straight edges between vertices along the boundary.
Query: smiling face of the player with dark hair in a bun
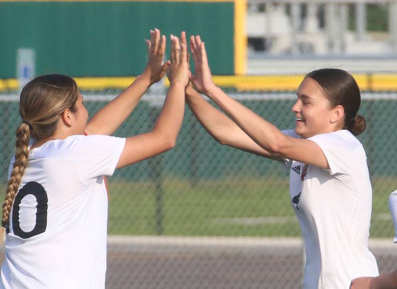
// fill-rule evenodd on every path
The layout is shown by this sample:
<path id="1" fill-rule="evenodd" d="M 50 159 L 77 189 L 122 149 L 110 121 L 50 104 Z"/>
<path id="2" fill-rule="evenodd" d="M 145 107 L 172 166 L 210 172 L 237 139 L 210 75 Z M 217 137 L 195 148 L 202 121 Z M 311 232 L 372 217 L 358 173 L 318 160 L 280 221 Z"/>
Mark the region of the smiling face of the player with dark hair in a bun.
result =
<path id="1" fill-rule="evenodd" d="M 298 99 L 292 111 L 296 117 L 295 133 L 299 136 L 307 139 L 343 127 L 343 107 L 331 108 L 325 92 L 315 80 L 306 77 L 296 94 Z"/>

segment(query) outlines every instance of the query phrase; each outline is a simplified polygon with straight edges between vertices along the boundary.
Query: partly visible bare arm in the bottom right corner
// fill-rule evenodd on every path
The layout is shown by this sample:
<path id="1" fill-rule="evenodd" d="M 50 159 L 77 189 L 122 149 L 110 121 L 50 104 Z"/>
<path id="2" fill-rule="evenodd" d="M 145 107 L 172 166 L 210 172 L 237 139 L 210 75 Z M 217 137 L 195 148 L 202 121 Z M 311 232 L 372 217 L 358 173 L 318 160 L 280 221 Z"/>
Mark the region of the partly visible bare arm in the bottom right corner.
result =
<path id="1" fill-rule="evenodd" d="M 397 270 L 378 277 L 361 277 L 351 282 L 350 289 L 396 289 Z"/>

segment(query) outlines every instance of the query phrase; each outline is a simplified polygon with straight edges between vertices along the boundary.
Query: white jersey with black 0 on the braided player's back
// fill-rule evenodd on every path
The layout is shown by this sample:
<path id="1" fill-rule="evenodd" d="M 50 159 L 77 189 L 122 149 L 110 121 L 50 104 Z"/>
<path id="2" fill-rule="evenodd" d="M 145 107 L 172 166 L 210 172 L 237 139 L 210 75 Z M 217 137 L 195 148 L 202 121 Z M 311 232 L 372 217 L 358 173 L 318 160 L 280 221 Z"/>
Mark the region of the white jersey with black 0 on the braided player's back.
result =
<path id="1" fill-rule="evenodd" d="M 102 175 L 113 174 L 124 145 L 122 138 L 70 136 L 30 151 L 9 215 L 0 288 L 105 288 Z"/>

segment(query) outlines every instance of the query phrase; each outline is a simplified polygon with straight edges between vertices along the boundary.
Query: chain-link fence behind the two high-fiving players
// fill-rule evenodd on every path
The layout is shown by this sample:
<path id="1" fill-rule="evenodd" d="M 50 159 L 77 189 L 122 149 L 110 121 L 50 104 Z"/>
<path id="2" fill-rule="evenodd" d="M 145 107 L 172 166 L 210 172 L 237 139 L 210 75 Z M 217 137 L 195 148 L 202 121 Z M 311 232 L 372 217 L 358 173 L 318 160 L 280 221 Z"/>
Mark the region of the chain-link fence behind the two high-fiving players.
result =
<path id="1" fill-rule="evenodd" d="M 92 115 L 118 92 L 84 93 Z M 280 129 L 294 126 L 294 93 L 231 93 Z M 20 123 L 18 97 L 2 95 L 2 187 Z M 397 264 L 388 209 L 397 189 L 396 93 L 363 93 L 363 143 L 373 185 L 371 249 L 381 272 Z M 146 96 L 117 136 L 151 129 L 162 97 Z M 300 288 L 304 249 L 290 207 L 288 171 L 216 143 L 189 109 L 177 145 L 109 178 L 108 289 Z"/>

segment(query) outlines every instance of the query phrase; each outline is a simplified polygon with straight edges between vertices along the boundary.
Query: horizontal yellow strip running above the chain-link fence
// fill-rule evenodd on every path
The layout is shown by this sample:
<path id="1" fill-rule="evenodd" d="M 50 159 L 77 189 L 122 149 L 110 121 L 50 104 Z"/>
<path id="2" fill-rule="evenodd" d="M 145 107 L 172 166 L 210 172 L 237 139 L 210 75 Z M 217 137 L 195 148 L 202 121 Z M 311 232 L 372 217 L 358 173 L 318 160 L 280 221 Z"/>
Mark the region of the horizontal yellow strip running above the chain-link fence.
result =
<path id="1" fill-rule="evenodd" d="M 239 91 L 296 91 L 305 75 L 214 75 L 216 85 Z M 353 74 L 361 90 L 397 91 L 397 74 Z M 81 90 L 124 89 L 135 77 L 75 77 Z M 168 80 L 165 80 L 168 86 Z M 17 90 L 15 78 L 0 79 L 0 91 Z"/>

